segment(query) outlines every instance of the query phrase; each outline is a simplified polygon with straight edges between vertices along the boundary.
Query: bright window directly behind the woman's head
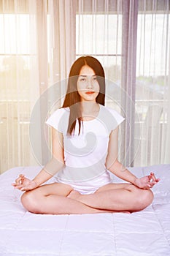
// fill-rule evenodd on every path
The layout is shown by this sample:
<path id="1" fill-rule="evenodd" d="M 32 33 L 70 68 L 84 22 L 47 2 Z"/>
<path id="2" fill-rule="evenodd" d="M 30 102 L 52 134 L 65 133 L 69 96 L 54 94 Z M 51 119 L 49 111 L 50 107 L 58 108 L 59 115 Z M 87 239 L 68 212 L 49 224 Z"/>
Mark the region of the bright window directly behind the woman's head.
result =
<path id="1" fill-rule="evenodd" d="M 120 102 L 119 90 L 122 61 L 122 15 L 120 14 L 77 14 L 76 17 L 76 55 L 96 57 L 104 67 L 107 78 L 107 105 Z M 117 95 L 117 96 L 116 96 Z M 118 105 L 115 105 L 117 110 Z"/>

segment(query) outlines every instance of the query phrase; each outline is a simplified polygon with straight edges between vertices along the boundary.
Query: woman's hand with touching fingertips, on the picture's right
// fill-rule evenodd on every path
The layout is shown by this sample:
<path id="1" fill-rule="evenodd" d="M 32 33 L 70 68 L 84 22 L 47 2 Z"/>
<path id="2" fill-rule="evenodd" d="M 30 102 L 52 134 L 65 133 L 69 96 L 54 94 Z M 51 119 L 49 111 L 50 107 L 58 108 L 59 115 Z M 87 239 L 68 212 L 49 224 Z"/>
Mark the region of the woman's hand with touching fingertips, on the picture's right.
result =
<path id="1" fill-rule="evenodd" d="M 151 189 L 155 184 L 160 181 L 160 178 L 155 178 L 154 173 L 142 178 L 136 178 L 134 185 L 140 189 Z"/>

